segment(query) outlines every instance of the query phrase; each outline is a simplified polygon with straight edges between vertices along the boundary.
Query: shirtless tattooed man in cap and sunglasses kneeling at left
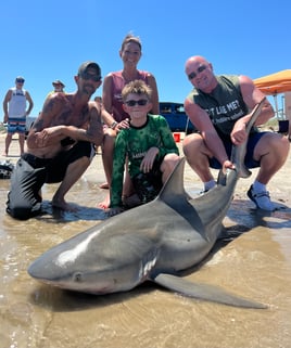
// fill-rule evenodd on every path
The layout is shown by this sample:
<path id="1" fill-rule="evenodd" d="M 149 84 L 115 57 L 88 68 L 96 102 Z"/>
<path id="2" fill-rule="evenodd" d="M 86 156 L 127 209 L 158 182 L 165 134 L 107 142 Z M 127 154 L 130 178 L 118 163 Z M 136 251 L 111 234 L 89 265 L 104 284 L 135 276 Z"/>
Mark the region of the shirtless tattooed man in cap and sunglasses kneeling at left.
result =
<path id="1" fill-rule="evenodd" d="M 90 101 L 101 86 L 101 69 L 94 62 L 85 62 L 75 76 L 77 91 L 53 93 L 29 130 L 26 151 L 11 177 L 7 211 L 26 220 L 41 212 L 40 190 L 45 183 L 60 185 L 52 206 L 76 210 L 65 194 L 90 165 L 93 145 L 101 145 L 103 128 L 100 105 Z"/>

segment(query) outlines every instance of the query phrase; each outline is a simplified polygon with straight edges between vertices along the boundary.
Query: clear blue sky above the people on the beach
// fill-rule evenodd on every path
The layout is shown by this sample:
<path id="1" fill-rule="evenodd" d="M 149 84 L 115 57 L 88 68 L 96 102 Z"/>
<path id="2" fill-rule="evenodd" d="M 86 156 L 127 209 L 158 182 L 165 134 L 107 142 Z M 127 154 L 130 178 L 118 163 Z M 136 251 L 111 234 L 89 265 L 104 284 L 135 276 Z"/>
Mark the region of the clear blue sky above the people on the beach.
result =
<path id="1" fill-rule="evenodd" d="M 155 76 L 160 101 L 184 103 L 191 55 L 205 56 L 218 75 L 255 79 L 291 68 L 290 13 L 289 0 L 1 1 L 0 99 L 21 75 L 37 116 L 53 80 L 76 90 L 83 62 L 97 62 L 103 77 L 122 69 L 118 51 L 132 33 L 142 41 L 138 68 Z M 101 94 L 102 86 L 93 96 Z"/>

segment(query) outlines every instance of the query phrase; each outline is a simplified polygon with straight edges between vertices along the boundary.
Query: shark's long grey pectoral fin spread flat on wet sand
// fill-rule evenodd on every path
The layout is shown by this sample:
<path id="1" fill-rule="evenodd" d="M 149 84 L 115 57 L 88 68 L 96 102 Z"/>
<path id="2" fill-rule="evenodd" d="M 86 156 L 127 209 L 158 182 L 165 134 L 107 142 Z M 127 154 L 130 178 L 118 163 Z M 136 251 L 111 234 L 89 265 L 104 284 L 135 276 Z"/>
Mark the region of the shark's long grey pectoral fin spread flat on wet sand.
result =
<path id="1" fill-rule="evenodd" d="M 152 279 L 152 281 L 174 292 L 202 300 L 210 300 L 235 307 L 257 309 L 267 308 L 266 305 L 229 294 L 223 288 L 207 284 L 192 283 L 186 279 L 172 274 L 160 273 Z"/>

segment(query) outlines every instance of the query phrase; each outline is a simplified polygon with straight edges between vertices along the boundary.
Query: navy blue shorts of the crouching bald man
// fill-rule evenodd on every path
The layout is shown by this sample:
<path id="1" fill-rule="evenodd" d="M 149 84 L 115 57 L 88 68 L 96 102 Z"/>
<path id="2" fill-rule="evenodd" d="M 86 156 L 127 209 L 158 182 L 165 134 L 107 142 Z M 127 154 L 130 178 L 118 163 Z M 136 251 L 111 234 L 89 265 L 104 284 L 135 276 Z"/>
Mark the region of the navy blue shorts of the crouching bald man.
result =
<path id="1" fill-rule="evenodd" d="M 257 144 L 257 142 L 260 141 L 260 139 L 265 136 L 267 132 L 254 132 L 251 133 L 249 136 L 249 141 L 248 141 L 248 145 L 246 145 L 246 154 L 244 157 L 244 165 L 246 168 L 257 168 L 260 167 L 260 162 L 258 160 L 254 160 L 254 149 L 255 145 Z M 232 149 L 232 142 L 230 140 L 224 140 L 224 145 L 226 149 L 226 153 L 228 155 L 228 158 L 230 158 L 231 156 L 231 149 Z M 222 169 L 222 165 L 215 158 L 210 158 L 210 166 L 211 168 L 214 169 Z"/>

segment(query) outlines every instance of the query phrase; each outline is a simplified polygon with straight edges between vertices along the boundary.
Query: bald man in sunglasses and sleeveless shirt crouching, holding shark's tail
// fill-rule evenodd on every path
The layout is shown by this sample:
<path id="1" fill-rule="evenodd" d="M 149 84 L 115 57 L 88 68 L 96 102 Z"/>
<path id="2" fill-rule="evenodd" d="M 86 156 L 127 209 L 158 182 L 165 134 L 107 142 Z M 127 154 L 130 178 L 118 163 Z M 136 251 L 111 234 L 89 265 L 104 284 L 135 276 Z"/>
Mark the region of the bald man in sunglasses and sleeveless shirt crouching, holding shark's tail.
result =
<path id="1" fill-rule="evenodd" d="M 216 184 L 210 167 L 233 168 L 230 162 L 232 144 L 246 141 L 250 112 L 265 95 L 246 76 L 215 75 L 212 64 L 203 56 L 189 57 L 185 70 L 194 87 L 185 100 L 185 109 L 198 132 L 185 138 L 182 149 L 189 165 L 204 182 L 204 191 L 208 191 Z M 266 100 L 255 126 L 264 125 L 273 116 L 274 109 Z M 257 208 L 275 209 L 266 185 L 283 166 L 288 153 L 286 137 L 252 129 L 244 164 L 248 168 L 260 167 L 248 191 Z"/>

